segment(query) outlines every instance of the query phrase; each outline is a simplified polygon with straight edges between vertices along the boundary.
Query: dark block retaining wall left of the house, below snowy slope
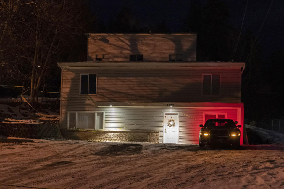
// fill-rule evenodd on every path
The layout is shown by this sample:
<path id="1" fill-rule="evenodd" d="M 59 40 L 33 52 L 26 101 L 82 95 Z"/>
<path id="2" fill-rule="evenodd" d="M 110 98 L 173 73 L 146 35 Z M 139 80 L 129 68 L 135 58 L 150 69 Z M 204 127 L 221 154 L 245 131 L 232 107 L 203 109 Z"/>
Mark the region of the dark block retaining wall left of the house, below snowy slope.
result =
<path id="1" fill-rule="evenodd" d="M 61 138 L 59 126 L 47 124 L 0 123 L 0 134 L 30 139 Z"/>

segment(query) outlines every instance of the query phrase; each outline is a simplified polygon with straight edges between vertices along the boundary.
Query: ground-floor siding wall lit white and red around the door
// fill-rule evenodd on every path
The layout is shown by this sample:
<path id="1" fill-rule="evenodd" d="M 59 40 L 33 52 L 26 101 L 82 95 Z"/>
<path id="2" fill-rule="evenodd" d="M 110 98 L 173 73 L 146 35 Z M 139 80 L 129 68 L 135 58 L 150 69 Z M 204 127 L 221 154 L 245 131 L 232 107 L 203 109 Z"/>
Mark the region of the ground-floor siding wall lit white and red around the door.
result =
<path id="1" fill-rule="evenodd" d="M 199 124 L 204 124 L 204 113 L 225 113 L 226 118 L 243 122 L 241 118 L 242 104 L 231 108 L 214 107 L 217 103 L 210 103 L 212 107 L 100 107 L 79 106 L 76 111 L 104 111 L 105 121 L 104 130 L 116 131 L 159 131 L 159 142 L 163 142 L 163 119 L 164 112 L 179 112 L 179 140 L 180 144 L 194 143 L 198 144 Z M 218 106 L 220 103 L 218 103 Z M 202 103 L 201 103 L 202 106 Z M 74 111 L 74 108 L 68 108 L 62 112 L 61 126 L 67 127 L 67 112 Z M 242 124 L 242 123 L 241 123 Z M 243 124 L 242 124 L 243 125 Z M 102 131 L 103 132 L 103 131 Z M 241 128 L 243 136 L 243 128 Z M 243 139 L 241 140 L 243 144 Z"/>

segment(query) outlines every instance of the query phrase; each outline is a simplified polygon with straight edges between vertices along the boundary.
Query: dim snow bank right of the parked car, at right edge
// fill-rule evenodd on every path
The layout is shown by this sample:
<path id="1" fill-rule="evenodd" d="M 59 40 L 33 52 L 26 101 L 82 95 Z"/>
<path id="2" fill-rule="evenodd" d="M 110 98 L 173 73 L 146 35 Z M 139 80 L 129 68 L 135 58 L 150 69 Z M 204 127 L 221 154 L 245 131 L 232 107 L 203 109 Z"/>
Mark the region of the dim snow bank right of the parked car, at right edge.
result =
<path id="1" fill-rule="evenodd" d="M 256 134 L 262 141 L 259 141 L 259 144 L 284 144 L 284 134 L 279 133 L 278 131 L 273 130 L 267 130 L 256 126 L 251 125 L 245 125 L 246 129 L 248 130 L 248 138 L 250 133 L 249 131 L 252 131 L 254 134 Z M 249 140 L 249 144 L 251 144 Z"/>

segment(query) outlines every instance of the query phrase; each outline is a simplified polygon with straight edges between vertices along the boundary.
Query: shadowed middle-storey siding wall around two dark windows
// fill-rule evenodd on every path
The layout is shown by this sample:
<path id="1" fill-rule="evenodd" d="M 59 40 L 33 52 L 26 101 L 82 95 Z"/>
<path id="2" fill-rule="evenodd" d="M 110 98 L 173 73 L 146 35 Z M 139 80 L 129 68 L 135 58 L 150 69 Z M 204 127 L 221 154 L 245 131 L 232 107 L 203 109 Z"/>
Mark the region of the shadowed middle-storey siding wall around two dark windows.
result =
<path id="1" fill-rule="evenodd" d="M 97 74 L 97 94 L 80 95 L 80 74 Z M 202 74 L 220 74 L 220 96 L 202 96 Z M 106 102 L 241 102 L 241 71 L 222 69 L 64 69 L 65 107 Z"/>

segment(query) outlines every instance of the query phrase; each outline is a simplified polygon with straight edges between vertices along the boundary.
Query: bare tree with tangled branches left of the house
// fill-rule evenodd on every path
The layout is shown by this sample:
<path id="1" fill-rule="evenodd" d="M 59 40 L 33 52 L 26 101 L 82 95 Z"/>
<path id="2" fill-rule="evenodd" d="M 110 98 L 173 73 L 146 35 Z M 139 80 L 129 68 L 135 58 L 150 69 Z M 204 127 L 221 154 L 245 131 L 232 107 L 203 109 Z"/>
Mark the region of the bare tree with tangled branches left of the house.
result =
<path id="1" fill-rule="evenodd" d="M 12 58 L 4 58 L 7 51 L 0 52 L 0 61 L 14 65 L 14 75 L 28 76 L 33 103 L 56 55 L 86 27 L 88 5 L 78 0 L 0 1 L 0 45 L 13 49 L 9 52 Z"/>

